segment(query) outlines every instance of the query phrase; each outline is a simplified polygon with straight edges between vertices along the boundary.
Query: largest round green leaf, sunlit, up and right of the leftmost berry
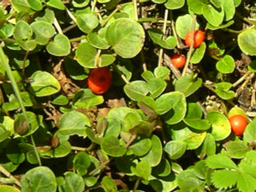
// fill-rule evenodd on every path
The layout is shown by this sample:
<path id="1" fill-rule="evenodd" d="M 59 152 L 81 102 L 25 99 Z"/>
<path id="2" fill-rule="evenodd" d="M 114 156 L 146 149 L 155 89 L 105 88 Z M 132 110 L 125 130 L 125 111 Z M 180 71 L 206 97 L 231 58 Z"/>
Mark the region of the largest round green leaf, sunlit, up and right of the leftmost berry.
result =
<path id="1" fill-rule="evenodd" d="M 122 58 L 134 58 L 145 40 L 142 26 L 130 18 L 118 18 L 106 31 L 106 41 Z"/>

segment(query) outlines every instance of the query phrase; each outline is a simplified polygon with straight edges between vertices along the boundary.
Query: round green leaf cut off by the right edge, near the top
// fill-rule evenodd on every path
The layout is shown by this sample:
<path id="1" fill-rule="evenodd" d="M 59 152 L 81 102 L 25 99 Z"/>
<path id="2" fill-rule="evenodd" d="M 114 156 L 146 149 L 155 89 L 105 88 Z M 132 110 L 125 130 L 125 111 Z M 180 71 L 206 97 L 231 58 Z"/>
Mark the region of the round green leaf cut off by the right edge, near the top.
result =
<path id="1" fill-rule="evenodd" d="M 243 53 L 256 55 L 256 30 L 245 30 L 238 34 L 238 46 Z"/>

